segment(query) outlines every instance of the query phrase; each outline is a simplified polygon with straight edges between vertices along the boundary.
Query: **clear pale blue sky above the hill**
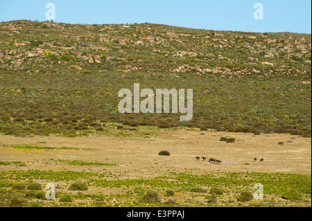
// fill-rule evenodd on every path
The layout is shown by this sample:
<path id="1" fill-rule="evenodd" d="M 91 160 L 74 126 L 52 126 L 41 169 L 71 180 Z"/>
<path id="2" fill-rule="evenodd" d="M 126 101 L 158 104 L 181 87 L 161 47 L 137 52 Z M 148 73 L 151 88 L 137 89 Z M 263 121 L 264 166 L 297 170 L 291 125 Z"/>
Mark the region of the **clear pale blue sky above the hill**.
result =
<path id="1" fill-rule="evenodd" d="M 0 21 L 46 21 L 46 3 L 55 22 L 71 24 L 168 24 L 207 30 L 311 34 L 310 0 L 0 0 Z M 255 3 L 263 19 L 254 19 Z"/>

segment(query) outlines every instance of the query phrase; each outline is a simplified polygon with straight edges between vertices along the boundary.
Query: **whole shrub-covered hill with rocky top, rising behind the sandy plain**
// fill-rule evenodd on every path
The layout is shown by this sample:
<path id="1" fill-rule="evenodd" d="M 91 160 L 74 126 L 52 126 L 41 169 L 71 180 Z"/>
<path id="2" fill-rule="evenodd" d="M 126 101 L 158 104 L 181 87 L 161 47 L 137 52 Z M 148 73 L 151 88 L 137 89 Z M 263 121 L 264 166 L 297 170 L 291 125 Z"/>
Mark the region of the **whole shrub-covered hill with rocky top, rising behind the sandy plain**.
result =
<path id="1" fill-rule="evenodd" d="M 0 23 L 0 132 L 110 123 L 311 136 L 311 35 L 157 24 Z M 193 119 L 119 114 L 122 88 L 192 88 Z"/>

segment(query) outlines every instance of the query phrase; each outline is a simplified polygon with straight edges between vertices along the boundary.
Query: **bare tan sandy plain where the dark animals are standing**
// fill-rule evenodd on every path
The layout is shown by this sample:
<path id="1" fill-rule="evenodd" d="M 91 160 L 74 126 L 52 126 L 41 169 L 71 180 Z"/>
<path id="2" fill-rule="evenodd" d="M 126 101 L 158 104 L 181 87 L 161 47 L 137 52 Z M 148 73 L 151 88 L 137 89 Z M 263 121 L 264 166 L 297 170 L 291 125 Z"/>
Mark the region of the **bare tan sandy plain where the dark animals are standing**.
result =
<path id="1" fill-rule="evenodd" d="M 168 172 L 205 175 L 209 173 L 290 173 L 311 175 L 311 138 L 290 134 L 246 134 L 199 130 L 156 130 L 151 138 L 89 136 L 17 137 L 0 135 L 0 161 L 22 161 L 27 166 L 0 166 L 8 170 L 92 171 L 119 174 L 119 179 L 151 179 Z M 234 143 L 219 141 L 233 137 Z M 283 142 L 281 145 L 279 142 Z M 29 144 L 45 147 L 79 148 L 79 150 L 19 150 L 11 145 Z M 168 150 L 171 156 L 158 156 Z M 209 163 L 196 157 L 220 159 L 221 164 Z M 254 161 L 257 157 L 258 161 Z M 263 162 L 259 159 L 263 158 Z M 78 160 L 112 163 L 112 166 L 75 166 L 47 163 L 55 160 Z M 126 172 L 126 173 L 125 173 Z M 110 178 L 108 178 L 110 179 Z M 111 178 L 114 179 L 114 178 Z M 44 184 L 44 183 L 43 183 Z M 60 182 L 60 185 L 64 182 Z M 65 184 L 64 184 L 65 185 Z M 118 193 L 114 188 L 89 187 L 88 193 Z M 190 197 L 190 195 L 185 196 Z M 194 197 L 193 197 L 194 198 Z M 196 198 L 196 197 L 195 197 Z M 176 196 L 175 200 L 179 200 Z M 181 199 L 180 199 L 181 200 Z M 308 200 L 311 206 L 311 197 Z"/>

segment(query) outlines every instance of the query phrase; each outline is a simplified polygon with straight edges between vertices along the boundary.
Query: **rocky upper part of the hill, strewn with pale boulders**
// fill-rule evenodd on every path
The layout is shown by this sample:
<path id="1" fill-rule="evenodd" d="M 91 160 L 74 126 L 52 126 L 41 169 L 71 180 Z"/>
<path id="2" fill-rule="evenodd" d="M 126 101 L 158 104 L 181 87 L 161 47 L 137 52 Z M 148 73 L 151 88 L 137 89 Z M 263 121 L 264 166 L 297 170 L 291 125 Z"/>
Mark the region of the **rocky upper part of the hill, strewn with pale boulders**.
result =
<path id="1" fill-rule="evenodd" d="M 1 22 L 0 30 L 0 64 L 5 70 L 311 78 L 308 34 L 26 20 Z M 58 65 L 51 68 L 53 64 Z"/>

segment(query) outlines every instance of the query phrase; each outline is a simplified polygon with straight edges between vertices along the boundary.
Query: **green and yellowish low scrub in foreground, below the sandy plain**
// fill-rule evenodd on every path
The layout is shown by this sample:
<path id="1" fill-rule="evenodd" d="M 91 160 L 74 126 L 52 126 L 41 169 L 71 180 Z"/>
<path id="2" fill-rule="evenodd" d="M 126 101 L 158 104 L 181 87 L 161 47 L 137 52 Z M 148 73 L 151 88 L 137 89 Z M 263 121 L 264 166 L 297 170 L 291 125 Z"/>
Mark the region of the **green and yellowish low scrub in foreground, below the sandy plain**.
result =
<path id="1" fill-rule="evenodd" d="M 169 172 L 153 179 L 119 177 L 10 170 L 0 173 L 0 206 L 311 206 L 311 175 Z M 48 183 L 55 185 L 55 200 L 46 200 Z M 257 183 L 263 185 L 263 200 L 253 198 Z M 97 191 L 88 192 L 92 187 Z M 110 190 L 117 191 L 107 194 Z"/>

